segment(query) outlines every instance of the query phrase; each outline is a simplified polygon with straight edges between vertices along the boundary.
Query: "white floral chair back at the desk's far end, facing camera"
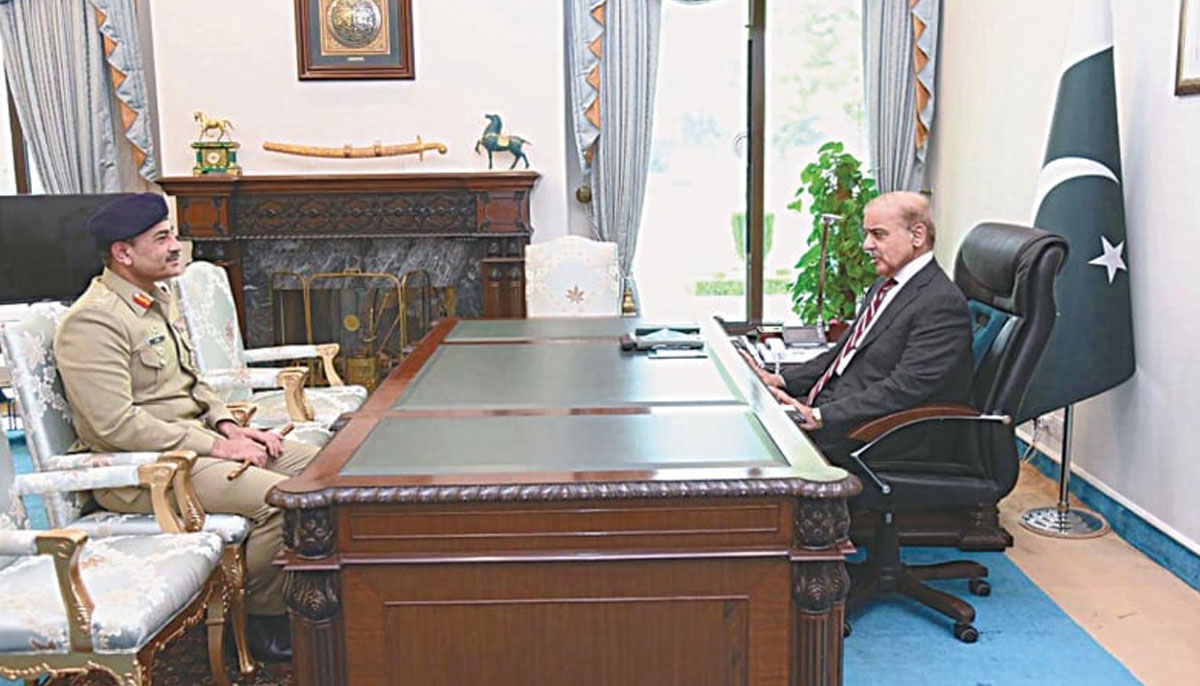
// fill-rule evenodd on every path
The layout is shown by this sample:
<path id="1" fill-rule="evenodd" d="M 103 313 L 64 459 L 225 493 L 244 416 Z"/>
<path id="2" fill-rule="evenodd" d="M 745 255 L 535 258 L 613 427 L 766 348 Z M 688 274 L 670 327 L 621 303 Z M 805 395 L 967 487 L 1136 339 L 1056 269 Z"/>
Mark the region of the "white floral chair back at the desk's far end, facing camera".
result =
<path id="1" fill-rule="evenodd" d="M 617 243 L 563 236 L 526 246 L 528 317 L 617 317 Z"/>

